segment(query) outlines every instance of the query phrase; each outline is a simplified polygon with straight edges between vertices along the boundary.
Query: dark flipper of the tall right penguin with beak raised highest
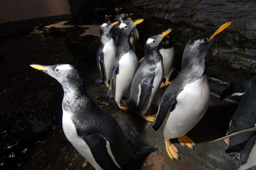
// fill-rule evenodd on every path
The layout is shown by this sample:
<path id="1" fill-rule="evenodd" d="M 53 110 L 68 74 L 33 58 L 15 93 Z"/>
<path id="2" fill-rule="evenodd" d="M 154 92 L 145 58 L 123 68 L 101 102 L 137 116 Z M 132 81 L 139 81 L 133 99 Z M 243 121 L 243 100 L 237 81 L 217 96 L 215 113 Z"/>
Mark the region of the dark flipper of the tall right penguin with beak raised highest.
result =
<path id="1" fill-rule="evenodd" d="M 158 130 L 164 123 L 164 119 L 166 118 L 169 111 L 172 111 L 176 106 L 177 101 L 174 99 L 165 98 L 159 105 L 158 111 L 156 114 L 156 120 L 153 125 L 154 130 Z"/>

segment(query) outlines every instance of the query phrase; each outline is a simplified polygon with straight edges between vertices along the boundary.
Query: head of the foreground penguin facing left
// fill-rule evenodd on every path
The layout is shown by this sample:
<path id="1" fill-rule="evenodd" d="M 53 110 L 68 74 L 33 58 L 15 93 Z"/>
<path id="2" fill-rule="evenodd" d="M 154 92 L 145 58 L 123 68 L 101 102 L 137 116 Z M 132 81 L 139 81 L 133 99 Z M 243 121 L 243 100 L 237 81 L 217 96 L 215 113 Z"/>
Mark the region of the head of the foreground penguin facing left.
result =
<path id="1" fill-rule="evenodd" d="M 57 64 L 52 66 L 44 66 L 39 64 L 31 64 L 30 66 L 55 78 L 63 88 L 83 84 L 82 76 L 72 65 Z"/>

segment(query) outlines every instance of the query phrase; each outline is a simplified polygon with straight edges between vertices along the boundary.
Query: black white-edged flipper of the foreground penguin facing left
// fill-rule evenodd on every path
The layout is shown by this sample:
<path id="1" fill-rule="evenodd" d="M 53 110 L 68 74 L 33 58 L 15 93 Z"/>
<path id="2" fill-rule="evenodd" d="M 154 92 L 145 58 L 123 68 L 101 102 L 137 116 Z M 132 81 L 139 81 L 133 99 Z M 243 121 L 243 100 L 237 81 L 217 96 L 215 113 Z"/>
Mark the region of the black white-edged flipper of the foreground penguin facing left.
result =
<path id="1" fill-rule="evenodd" d="M 121 167 L 116 162 L 114 155 L 111 152 L 110 143 L 104 136 L 102 136 L 100 133 L 83 135 L 84 133 L 82 131 L 80 132 L 80 137 L 82 137 L 86 144 L 89 146 L 93 158 L 102 169 L 121 169 Z"/>

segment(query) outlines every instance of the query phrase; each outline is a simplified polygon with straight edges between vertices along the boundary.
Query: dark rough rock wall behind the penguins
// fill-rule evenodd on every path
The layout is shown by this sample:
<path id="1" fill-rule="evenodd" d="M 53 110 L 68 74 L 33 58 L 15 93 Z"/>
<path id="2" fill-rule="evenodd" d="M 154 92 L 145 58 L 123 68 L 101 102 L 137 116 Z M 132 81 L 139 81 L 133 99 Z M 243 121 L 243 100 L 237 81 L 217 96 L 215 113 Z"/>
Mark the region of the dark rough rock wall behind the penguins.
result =
<path id="1" fill-rule="evenodd" d="M 122 7 L 132 18 L 144 18 L 138 27 L 143 55 L 148 37 L 171 28 L 176 48 L 175 69 L 180 70 L 183 49 L 197 34 L 234 22 L 215 40 L 206 57 L 208 78 L 233 83 L 256 73 L 256 3 L 236 0 L 68 0 L 73 24 L 101 24 L 105 14 Z M 114 19 L 114 17 L 112 18 Z M 140 58 L 140 56 L 138 56 Z M 217 81 L 218 81 L 217 80 Z"/>

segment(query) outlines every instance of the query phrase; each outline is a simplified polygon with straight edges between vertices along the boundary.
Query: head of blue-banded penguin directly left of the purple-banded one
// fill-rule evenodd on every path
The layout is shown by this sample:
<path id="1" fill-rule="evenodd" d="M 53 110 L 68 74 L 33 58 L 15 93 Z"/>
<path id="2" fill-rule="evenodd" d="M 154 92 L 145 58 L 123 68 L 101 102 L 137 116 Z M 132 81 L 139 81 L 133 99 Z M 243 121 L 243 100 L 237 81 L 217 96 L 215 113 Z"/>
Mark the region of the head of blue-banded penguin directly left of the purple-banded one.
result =
<path id="1" fill-rule="evenodd" d="M 122 36 L 130 36 L 130 34 L 132 33 L 132 30 L 135 28 L 135 26 L 137 26 L 138 24 L 140 24 L 141 22 L 143 22 L 144 19 L 140 18 L 137 20 L 132 20 L 132 19 L 126 19 L 123 22 L 121 22 L 121 24 L 118 27 L 118 36 L 122 37 Z"/>

